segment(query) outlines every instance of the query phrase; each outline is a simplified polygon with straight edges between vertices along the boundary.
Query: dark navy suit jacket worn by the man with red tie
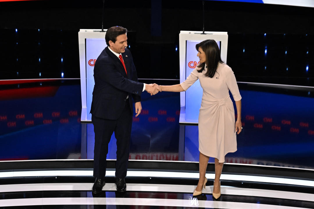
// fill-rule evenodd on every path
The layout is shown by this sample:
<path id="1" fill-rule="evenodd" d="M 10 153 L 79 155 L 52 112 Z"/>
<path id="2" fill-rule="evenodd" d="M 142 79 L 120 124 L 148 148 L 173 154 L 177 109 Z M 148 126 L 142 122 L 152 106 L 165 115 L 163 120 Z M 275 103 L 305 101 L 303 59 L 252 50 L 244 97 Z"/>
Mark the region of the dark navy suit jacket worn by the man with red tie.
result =
<path id="1" fill-rule="evenodd" d="M 140 102 L 143 83 L 138 82 L 133 57 L 130 50 L 125 49 L 122 57 L 127 69 L 108 46 L 98 56 L 94 66 L 95 86 L 90 113 L 98 118 L 116 120 L 120 117 L 127 96 L 133 114 L 132 99 Z"/>

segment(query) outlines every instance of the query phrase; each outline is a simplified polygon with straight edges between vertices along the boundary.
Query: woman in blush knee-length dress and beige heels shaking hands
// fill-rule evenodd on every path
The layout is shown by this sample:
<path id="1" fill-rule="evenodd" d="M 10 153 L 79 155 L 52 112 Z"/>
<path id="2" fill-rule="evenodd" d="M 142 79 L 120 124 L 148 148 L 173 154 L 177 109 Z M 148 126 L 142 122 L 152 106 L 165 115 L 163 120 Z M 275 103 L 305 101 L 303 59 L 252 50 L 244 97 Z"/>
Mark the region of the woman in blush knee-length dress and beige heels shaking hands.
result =
<path id="1" fill-rule="evenodd" d="M 199 64 L 181 84 L 159 86 L 161 91 L 187 91 L 199 79 L 203 97 L 198 118 L 199 180 L 193 196 L 202 194 L 209 157 L 215 158 L 213 197 L 220 197 L 220 175 L 225 155 L 237 150 L 236 133 L 242 129 L 241 95 L 236 77 L 231 68 L 220 57 L 219 47 L 214 40 L 196 44 Z M 154 84 L 156 85 L 156 84 Z M 236 102 L 237 121 L 229 90 Z"/>

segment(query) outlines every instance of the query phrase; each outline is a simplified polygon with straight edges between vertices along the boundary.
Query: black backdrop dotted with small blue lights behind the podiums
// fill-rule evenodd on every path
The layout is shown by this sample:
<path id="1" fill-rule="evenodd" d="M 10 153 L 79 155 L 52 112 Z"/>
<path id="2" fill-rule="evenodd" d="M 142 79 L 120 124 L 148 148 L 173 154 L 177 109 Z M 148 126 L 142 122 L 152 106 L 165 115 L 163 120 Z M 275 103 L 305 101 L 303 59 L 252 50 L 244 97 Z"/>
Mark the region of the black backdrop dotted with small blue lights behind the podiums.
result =
<path id="1" fill-rule="evenodd" d="M 101 28 L 102 3 L 0 3 L 0 80 L 60 78 L 62 72 L 64 78 L 79 78 L 78 31 Z M 205 1 L 205 31 L 228 32 L 227 64 L 237 81 L 313 86 L 313 13 L 313 8 Z M 179 79 L 178 34 L 203 29 L 202 1 L 107 0 L 104 28 L 114 25 L 129 30 L 139 78 Z"/>

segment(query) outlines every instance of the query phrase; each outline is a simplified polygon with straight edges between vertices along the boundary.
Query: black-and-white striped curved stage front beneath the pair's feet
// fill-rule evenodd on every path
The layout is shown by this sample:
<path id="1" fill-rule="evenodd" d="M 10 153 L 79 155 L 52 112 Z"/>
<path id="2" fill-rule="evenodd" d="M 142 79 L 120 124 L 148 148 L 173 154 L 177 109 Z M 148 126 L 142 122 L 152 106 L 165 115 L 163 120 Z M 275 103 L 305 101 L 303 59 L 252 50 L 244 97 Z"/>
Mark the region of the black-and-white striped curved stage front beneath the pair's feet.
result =
<path id="1" fill-rule="evenodd" d="M 108 172 L 103 191 L 92 194 L 94 178 L 88 175 L 92 170 L 75 170 L 77 176 L 66 170 L 27 172 L 17 171 L 16 175 L 20 177 L 7 174 L 7 177 L 0 178 L 1 209 L 314 208 L 314 181 L 309 180 L 271 178 L 266 182 L 262 176 L 224 175 L 221 178 L 221 197 L 215 200 L 212 197 L 214 174 L 206 174 L 208 183 L 203 194 L 192 196 L 198 173 L 128 172 L 127 191 L 121 193 L 116 191 L 113 183 L 115 171 L 112 170 Z"/>

